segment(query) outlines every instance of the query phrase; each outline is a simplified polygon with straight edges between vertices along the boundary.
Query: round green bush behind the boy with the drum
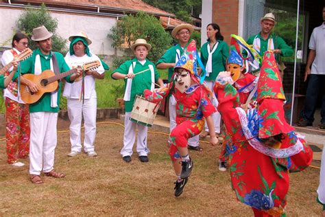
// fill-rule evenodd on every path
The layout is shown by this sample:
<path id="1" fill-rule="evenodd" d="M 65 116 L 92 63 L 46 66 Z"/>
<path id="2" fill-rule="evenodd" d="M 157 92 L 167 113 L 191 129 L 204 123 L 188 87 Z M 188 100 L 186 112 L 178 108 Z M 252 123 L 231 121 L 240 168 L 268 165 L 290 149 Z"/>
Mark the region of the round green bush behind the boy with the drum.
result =
<path id="1" fill-rule="evenodd" d="M 124 59 L 133 56 L 129 47 L 138 38 L 144 38 L 152 45 L 147 58 L 153 62 L 163 56 L 165 50 L 171 45 L 171 36 L 165 32 L 158 19 L 143 12 L 124 16 L 110 29 L 110 32 L 108 38 L 112 40 L 112 47 L 121 49 L 125 54 Z M 115 63 L 120 62 L 122 61 L 115 60 Z"/>

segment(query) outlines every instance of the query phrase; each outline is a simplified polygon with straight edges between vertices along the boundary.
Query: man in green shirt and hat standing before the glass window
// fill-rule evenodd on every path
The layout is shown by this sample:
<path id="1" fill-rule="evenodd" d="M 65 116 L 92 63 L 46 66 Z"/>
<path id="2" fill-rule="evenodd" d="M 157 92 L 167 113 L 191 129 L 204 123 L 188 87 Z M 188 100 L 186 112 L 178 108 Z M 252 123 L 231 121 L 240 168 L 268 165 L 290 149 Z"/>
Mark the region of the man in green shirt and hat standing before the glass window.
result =
<path id="1" fill-rule="evenodd" d="M 248 38 L 248 45 L 253 45 L 253 48 L 263 58 L 267 50 L 273 50 L 276 54 L 276 62 L 279 62 L 279 56 L 291 56 L 293 49 L 280 37 L 272 34 L 272 30 L 276 25 L 274 14 L 268 13 L 261 18 L 261 32 Z M 259 66 L 261 67 L 261 65 Z"/>

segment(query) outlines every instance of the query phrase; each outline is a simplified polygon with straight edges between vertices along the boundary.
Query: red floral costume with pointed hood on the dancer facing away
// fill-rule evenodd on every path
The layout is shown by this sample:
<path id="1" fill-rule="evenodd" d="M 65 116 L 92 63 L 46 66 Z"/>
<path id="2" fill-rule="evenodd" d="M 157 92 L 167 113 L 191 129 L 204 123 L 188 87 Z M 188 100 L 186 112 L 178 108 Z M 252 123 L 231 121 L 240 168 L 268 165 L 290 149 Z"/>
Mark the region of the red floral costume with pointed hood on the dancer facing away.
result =
<path id="1" fill-rule="evenodd" d="M 233 141 L 232 188 L 239 201 L 252 207 L 255 216 L 285 214 L 288 172 L 307 168 L 313 152 L 285 121 L 285 96 L 273 52 L 265 52 L 263 58 L 256 109 L 244 111 L 239 107 L 239 95 L 228 80 L 230 76 L 221 73 L 215 93 Z"/>

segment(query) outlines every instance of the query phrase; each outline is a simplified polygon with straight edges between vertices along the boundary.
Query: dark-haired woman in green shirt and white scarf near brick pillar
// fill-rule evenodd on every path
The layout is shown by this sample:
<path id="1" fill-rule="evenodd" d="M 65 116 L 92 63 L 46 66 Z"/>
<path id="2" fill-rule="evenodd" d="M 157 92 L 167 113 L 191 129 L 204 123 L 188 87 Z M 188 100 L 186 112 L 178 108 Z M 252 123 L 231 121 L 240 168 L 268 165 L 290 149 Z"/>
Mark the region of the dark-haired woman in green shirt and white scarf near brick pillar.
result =
<path id="1" fill-rule="evenodd" d="M 201 60 L 206 67 L 206 78 L 204 82 L 213 91 L 215 85 L 215 78 L 219 75 L 220 71 L 226 70 L 226 60 L 229 55 L 229 47 L 224 42 L 224 36 L 221 35 L 220 27 L 217 23 L 210 23 L 206 27 L 206 35 L 208 36 L 207 42 L 201 47 Z M 215 108 L 218 106 L 217 98 L 213 94 L 213 105 Z M 220 133 L 220 120 L 221 115 L 219 112 L 213 113 L 213 124 L 215 126 L 215 133 Z M 208 126 L 205 124 L 204 132 L 200 135 L 202 138 L 208 135 Z"/>

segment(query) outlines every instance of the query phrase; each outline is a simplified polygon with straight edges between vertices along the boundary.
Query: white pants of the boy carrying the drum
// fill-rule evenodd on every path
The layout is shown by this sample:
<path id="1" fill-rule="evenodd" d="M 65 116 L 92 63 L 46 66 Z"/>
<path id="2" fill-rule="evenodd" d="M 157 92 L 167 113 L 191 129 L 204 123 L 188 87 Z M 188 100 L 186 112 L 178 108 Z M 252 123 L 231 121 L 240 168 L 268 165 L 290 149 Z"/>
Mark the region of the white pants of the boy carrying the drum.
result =
<path id="1" fill-rule="evenodd" d="M 122 157 L 131 156 L 132 148 L 136 137 L 136 126 L 138 126 L 138 138 L 136 139 L 136 152 L 139 156 L 147 156 L 149 149 L 147 148 L 148 127 L 141 124 L 136 124 L 130 121 L 131 113 L 125 112 L 124 119 L 124 137 L 123 148 L 121 149 Z"/>

